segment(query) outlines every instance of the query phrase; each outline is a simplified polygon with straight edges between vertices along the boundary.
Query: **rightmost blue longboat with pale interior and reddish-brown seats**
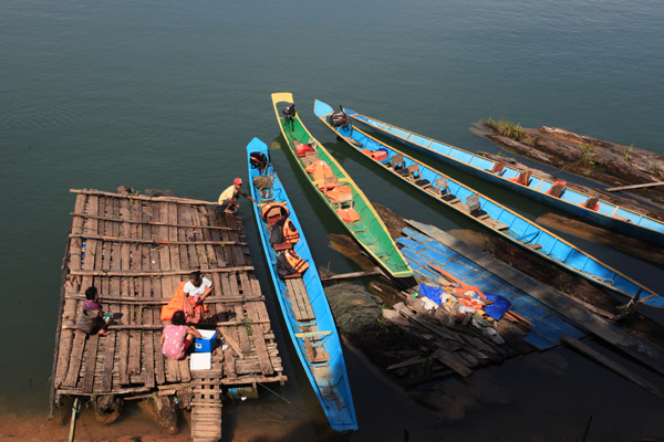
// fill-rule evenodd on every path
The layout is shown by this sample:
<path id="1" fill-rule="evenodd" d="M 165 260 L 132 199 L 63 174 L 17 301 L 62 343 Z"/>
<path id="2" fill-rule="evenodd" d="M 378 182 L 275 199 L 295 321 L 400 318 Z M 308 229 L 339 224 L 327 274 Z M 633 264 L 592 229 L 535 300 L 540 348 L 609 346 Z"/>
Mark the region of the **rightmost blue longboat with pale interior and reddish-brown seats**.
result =
<path id="1" fill-rule="evenodd" d="M 664 222 L 660 220 L 567 188 L 564 181 L 551 181 L 536 173 L 529 175 L 504 162 L 480 157 L 354 110 L 345 109 L 345 112 L 349 118 L 360 127 L 374 130 L 393 141 L 422 151 L 468 173 L 553 206 L 603 228 L 649 243 L 664 245 Z"/>

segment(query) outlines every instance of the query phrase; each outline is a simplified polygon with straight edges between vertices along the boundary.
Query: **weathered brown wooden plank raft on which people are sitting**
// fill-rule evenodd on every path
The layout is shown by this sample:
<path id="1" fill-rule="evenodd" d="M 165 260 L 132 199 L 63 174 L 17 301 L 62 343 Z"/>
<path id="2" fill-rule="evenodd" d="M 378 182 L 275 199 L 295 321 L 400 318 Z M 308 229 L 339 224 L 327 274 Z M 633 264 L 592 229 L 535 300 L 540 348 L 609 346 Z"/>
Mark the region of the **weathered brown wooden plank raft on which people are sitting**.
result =
<path id="1" fill-rule="evenodd" d="M 255 278 L 242 223 L 206 201 L 72 190 L 76 202 L 63 259 L 51 413 L 61 397 L 181 396 L 195 440 L 221 436 L 221 388 L 286 381 L 270 318 Z M 227 348 L 212 369 L 165 360 L 159 313 L 181 281 L 200 270 L 214 284 L 209 327 Z M 85 288 L 113 315 L 110 335 L 76 329 Z M 183 394 L 185 392 L 185 394 Z M 184 399 L 184 400 L 183 400 Z"/>

